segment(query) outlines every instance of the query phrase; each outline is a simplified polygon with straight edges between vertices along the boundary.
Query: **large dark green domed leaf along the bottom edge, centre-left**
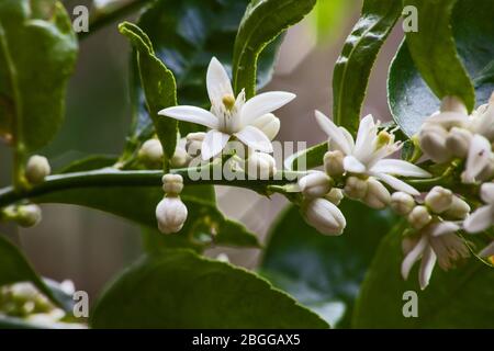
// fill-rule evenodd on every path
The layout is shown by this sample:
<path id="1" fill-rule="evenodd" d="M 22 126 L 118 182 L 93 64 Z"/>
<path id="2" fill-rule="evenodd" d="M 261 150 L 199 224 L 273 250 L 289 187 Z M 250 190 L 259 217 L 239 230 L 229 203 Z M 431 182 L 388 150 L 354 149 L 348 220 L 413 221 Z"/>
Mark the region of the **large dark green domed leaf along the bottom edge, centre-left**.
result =
<path id="1" fill-rule="evenodd" d="M 91 314 L 93 328 L 327 328 L 293 298 L 244 269 L 187 250 L 145 257 Z"/>

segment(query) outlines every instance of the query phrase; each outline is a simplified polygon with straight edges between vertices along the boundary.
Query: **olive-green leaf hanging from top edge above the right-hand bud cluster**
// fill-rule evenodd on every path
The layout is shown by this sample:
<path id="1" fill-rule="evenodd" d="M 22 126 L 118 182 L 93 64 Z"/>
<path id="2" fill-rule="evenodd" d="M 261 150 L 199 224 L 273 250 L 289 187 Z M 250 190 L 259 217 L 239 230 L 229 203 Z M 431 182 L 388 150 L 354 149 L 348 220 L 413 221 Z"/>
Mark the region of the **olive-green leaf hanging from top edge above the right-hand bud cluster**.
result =
<path id="1" fill-rule="evenodd" d="M 472 111 L 475 92 L 458 55 L 451 30 L 451 24 L 456 25 L 451 19 L 456 2 L 404 0 L 404 4 L 415 7 L 418 14 L 418 31 L 406 33 L 406 43 L 415 66 L 433 92 L 439 99 L 458 97 Z M 462 15 L 471 16 L 471 13 Z"/>

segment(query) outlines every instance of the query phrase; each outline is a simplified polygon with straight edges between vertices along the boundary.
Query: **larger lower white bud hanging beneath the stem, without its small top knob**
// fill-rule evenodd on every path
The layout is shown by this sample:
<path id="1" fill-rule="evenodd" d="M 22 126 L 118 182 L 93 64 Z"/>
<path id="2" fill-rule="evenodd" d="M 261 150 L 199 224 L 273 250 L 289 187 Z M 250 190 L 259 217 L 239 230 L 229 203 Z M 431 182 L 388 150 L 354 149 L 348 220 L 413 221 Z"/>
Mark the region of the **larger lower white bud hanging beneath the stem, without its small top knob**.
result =
<path id="1" fill-rule="evenodd" d="M 180 231 L 187 219 L 187 207 L 179 196 L 164 197 L 156 206 L 156 219 L 159 231 L 164 234 Z"/>

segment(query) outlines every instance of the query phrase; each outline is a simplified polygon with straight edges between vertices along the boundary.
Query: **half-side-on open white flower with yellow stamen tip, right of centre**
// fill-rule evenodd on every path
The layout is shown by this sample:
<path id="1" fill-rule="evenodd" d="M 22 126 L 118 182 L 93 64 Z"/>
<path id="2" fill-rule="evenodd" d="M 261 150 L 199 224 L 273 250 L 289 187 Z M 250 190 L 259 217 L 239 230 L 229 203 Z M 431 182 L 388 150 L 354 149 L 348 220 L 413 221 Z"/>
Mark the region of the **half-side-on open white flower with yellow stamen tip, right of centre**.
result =
<path id="1" fill-rule="evenodd" d="M 344 154 L 344 168 L 347 172 L 374 177 L 391 188 L 412 195 L 418 191 L 394 176 L 428 178 L 430 173 L 404 160 L 386 159 L 401 148 L 394 136 L 386 131 L 379 133 L 379 125 L 372 115 L 360 122 L 357 139 L 344 127 L 338 127 L 319 111 L 315 112 L 317 123 L 329 136 L 329 149 Z"/>

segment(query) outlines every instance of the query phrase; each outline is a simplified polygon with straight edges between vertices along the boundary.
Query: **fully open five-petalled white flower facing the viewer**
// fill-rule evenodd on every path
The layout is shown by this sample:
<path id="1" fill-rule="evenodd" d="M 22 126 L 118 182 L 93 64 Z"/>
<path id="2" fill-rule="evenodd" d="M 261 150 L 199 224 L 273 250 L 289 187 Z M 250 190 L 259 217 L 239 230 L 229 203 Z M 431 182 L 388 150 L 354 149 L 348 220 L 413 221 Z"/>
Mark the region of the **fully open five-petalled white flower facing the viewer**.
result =
<path id="1" fill-rule="evenodd" d="M 271 140 L 259 128 L 257 120 L 285 105 L 295 98 L 295 94 L 271 91 L 258 94 L 246 102 L 245 92 L 242 91 L 235 98 L 228 75 L 215 57 L 211 59 L 207 68 L 206 86 L 211 111 L 181 105 L 161 110 L 159 114 L 211 128 L 201 147 L 204 160 L 218 155 L 232 136 L 254 150 L 272 152 Z M 272 135 L 271 132 L 268 134 Z"/>

